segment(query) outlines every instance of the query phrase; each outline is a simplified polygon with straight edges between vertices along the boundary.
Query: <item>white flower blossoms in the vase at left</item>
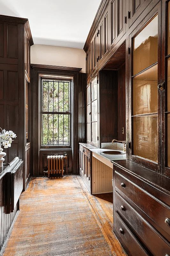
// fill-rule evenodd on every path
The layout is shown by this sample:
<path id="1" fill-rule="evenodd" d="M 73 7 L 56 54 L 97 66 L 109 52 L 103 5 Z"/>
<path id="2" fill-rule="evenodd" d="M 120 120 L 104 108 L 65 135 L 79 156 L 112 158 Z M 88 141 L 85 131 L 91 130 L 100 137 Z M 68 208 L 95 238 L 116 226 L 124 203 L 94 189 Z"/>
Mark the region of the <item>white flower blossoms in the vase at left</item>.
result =
<path id="1" fill-rule="evenodd" d="M 13 141 L 12 138 L 16 137 L 16 134 L 12 131 L 6 131 L 5 129 L 2 130 L 2 132 L 0 132 L 0 146 L 4 146 L 4 148 L 11 147 L 11 143 Z"/>

